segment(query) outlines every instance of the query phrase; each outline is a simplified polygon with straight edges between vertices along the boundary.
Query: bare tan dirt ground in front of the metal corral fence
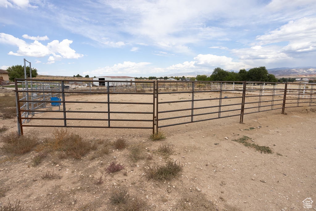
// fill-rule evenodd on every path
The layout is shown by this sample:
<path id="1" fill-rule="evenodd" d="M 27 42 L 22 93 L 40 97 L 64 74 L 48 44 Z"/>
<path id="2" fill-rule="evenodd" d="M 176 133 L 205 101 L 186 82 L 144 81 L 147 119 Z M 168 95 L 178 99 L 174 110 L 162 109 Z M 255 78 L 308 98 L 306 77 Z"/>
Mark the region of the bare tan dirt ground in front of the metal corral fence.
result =
<path id="1" fill-rule="evenodd" d="M 96 96 L 80 99 L 88 98 Z M 72 109 L 84 110 L 83 106 L 74 104 Z M 93 160 L 89 158 L 94 151 L 79 160 L 49 154 L 36 167 L 31 165 L 36 151 L 16 157 L 0 152 L 0 187 L 8 189 L 0 196 L 0 205 L 21 200 L 26 210 L 119 210 L 109 198 L 120 186 L 128 189 L 129 200 L 141 198 L 143 210 L 304 210 L 303 200 L 316 200 L 315 111 L 288 108 L 286 115 L 280 109 L 245 115 L 244 124 L 235 116 L 164 127 L 167 138 L 158 141 L 149 139 L 150 129 L 68 128 L 91 142 L 123 137 L 128 146 L 112 147 L 109 154 Z M 38 114 L 43 115 L 53 114 Z M 16 119 L 1 120 L 0 127 L 4 125 L 9 129 L 2 135 L 17 130 Z M 41 139 L 53 132 L 50 127 L 24 127 L 24 135 L 36 133 Z M 269 146 L 273 153 L 233 141 L 243 136 Z M 173 153 L 159 153 L 161 144 L 172 144 Z M 136 163 L 129 157 L 135 145 L 145 155 Z M 152 160 L 146 159 L 148 154 Z M 162 182 L 147 179 L 144 169 L 170 159 L 183 165 L 179 177 Z M 105 174 L 113 161 L 125 164 L 126 176 L 122 171 Z M 47 170 L 58 172 L 61 179 L 42 179 Z M 106 175 L 104 183 L 95 185 L 95 177 L 101 175 Z"/>

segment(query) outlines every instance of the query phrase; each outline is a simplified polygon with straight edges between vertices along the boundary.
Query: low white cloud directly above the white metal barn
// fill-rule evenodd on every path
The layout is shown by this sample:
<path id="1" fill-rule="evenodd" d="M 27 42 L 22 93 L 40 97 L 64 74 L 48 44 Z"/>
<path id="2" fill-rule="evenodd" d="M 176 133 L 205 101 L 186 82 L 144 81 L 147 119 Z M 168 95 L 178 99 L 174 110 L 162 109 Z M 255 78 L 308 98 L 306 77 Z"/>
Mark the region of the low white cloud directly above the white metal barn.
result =
<path id="1" fill-rule="evenodd" d="M 137 74 L 137 73 L 146 73 L 147 70 L 149 69 L 146 65 L 149 65 L 151 63 L 149 62 L 130 62 L 130 61 L 125 61 L 123 64 L 115 64 L 112 67 L 106 66 L 103 68 L 98 68 L 94 71 L 86 71 L 83 72 L 83 74 L 91 74 L 91 75 L 105 75 L 105 74 L 110 74 L 110 75 L 121 75 L 121 74 Z"/>

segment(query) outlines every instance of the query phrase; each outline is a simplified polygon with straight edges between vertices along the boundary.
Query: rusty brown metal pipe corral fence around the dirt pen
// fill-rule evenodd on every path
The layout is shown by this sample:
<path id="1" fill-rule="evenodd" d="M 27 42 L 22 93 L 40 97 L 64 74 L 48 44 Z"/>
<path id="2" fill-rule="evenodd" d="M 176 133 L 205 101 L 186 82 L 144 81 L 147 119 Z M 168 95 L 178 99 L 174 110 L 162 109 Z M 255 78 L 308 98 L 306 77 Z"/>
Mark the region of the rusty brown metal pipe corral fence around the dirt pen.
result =
<path id="1" fill-rule="evenodd" d="M 78 89 L 69 85 L 78 82 L 74 80 L 23 79 L 32 85 L 18 90 L 19 80 L 15 80 L 19 133 L 23 127 L 142 128 L 154 133 L 161 127 L 234 116 L 242 123 L 246 114 L 276 109 L 284 113 L 286 108 L 316 105 L 315 84 L 304 83 L 133 81 L 120 85 L 118 81 L 110 86 L 111 81 L 100 81 L 106 85 L 94 87 L 91 80 Z M 68 100 L 74 95 L 99 99 Z M 173 100 L 167 100 L 167 95 Z M 71 109 L 74 104 L 82 108 Z M 34 117 L 43 112 L 51 115 Z M 82 118 L 87 113 L 92 118 Z M 40 122 L 25 124 L 25 120 Z"/>

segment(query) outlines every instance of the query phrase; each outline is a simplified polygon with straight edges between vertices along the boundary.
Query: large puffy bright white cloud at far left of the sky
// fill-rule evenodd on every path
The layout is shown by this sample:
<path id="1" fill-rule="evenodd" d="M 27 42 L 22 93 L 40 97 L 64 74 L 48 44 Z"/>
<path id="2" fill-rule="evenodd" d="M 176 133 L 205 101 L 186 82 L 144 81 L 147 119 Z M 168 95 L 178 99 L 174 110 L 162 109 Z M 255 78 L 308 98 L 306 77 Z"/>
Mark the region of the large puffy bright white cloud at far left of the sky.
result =
<path id="1" fill-rule="evenodd" d="M 44 46 L 37 40 L 35 40 L 33 43 L 26 43 L 24 40 L 16 38 L 10 34 L 0 33 L 0 42 L 16 45 L 19 48 L 17 53 L 12 51 L 8 53 L 9 55 L 14 56 L 45 57 L 52 54 L 53 56 L 50 56 L 48 61 L 59 61 L 61 58 L 78 59 L 83 56 L 80 53 L 76 53 L 75 50 L 69 47 L 72 43 L 72 40 L 68 39 L 65 39 L 61 42 L 58 40 L 53 40 Z"/>

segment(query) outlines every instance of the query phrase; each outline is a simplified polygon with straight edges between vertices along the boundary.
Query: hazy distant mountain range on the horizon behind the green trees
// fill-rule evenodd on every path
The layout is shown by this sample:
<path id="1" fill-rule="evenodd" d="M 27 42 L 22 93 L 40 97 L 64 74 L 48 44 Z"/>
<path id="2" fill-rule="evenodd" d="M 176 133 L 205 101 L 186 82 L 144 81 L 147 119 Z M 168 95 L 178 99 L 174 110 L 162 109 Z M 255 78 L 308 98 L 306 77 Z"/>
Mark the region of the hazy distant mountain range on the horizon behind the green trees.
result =
<path id="1" fill-rule="evenodd" d="M 250 68 L 246 69 L 247 71 Z M 239 72 L 235 70 L 226 70 L 230 72 Z M 316 67 L 278 67 L 278 68 L 272 68 L 268 69 L 268 72 L 270 74 L 273 74 L 276 76 L 276 78 L 302 78 L 302 77 L 316 77 Z M 163 75 L 161 77 L 182 77 L 185 76 L 185 78 L 191 78 L 196 77 L 197 75 L 206 75 L 210 76 L 212 75 L 213 71 L 210 72 L 203 72 L 203 71 L 196 71 L 196 72 L 181 72 L 181 73 L 172 73 Z"/>

